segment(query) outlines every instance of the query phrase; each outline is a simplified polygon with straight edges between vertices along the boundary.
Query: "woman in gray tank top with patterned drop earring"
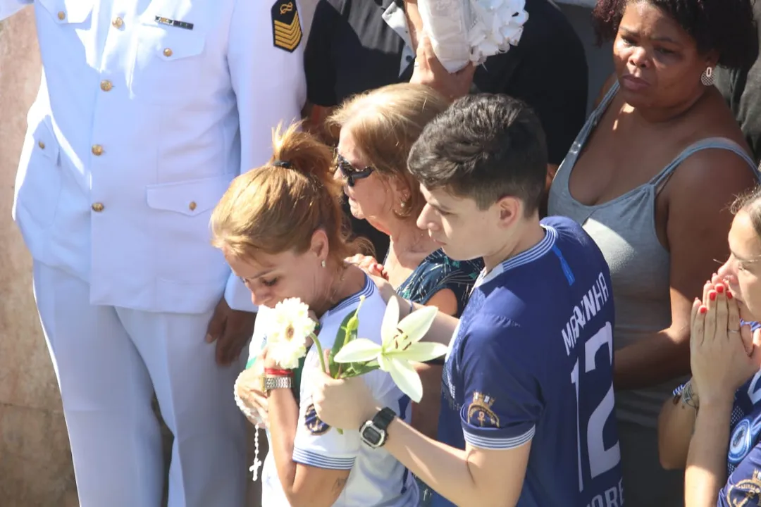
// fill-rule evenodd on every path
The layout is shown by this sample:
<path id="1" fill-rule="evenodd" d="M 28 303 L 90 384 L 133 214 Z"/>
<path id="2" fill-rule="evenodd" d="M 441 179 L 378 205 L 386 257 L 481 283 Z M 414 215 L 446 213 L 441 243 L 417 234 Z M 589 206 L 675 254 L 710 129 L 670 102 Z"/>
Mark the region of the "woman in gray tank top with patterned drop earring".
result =
<path id="1" fill-rule="evenodd" d="M 683 471 L 659 463 L 658 412 L 689 373 L 690 307 L 728 256 L 728 204 L 756 182 L 712 86 L 715 65 L 753 59 L 752 11 L 749 0 L 600 0 L 594 21 L 614 40 L 616 75 L 552 182 L 549 214 L 581 223 L 610 265 L 626 506 L 677 507 Z"/>

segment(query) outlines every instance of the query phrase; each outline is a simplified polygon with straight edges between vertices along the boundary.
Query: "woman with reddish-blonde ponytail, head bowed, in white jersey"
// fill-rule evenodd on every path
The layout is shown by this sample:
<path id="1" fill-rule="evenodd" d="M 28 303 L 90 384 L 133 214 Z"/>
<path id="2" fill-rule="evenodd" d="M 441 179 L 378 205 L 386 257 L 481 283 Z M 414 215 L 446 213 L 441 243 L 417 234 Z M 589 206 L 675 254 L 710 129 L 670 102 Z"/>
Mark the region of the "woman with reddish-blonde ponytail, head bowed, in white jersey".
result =
<path id="1" fill-rule="evenodd" d="M 333 168 L 330 148 L 317 138 L 298 125 L 278 129 L 272 160 L 234 179 L 212 214 L 214 245 L 260 306 L 252 357 L 266 344 L 269 309 L 292 297 L 309 306 L 325 348 L 333 346 L 344 318 L 364 299 L 358 334 L 380 343 L 386 305 L 368 276 L 343 260 L 358 253 L 360 245 L 349 240 L 344 227 L 342 182 L 333 178 Z M 270 451 L 262 473 L 263 507 L 416 505 L 417 487 L 403 465 L 383 448 L 361 445 L 358 428 L 339 433 L 317 418 L 308 386 L 310 373 L 319 367 L 316 347 L 295 370 L 276 363 L 265 350 L 242 374 L 272 379 L 266 400 Z M 409 422 L 409 398 L 390 375 L 376 370 L 362 379 Z M 237 388 L 239 399 L 244 390 Z M 247 417 L 259 423 L 253 414 Z"/>

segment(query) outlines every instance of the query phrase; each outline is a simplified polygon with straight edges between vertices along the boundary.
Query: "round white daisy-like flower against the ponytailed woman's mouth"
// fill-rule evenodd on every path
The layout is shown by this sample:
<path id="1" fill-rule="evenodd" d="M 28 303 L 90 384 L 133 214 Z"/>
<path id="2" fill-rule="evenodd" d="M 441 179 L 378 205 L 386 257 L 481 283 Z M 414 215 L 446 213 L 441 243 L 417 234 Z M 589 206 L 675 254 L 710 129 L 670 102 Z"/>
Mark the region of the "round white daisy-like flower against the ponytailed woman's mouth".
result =
<path id="1" fill-rule="evenodd" d="M 267 356 L 281 368 L 297 368 L 298 360 L 307 355 L 307 337 L 317 325 L 309 318 L 309 306 L 292 297 L 276 304 L 268 316 Z"/>

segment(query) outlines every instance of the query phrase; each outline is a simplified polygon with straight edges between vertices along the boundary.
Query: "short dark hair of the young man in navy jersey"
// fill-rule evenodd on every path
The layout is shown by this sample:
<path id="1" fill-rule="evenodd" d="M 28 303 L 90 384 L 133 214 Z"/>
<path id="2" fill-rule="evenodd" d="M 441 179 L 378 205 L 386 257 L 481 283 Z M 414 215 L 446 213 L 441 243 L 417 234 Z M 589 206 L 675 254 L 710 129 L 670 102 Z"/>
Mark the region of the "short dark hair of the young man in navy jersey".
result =
<path id="1" fill-rule="evenodd" d="M 456 100 L 422 131 L 407 160 L 426 189 L 447 189 L 485 210 L 499 199 L 524 201 L 532 214 L 543 198 L 547 144 L 529 106 L 506 95 Z"/>

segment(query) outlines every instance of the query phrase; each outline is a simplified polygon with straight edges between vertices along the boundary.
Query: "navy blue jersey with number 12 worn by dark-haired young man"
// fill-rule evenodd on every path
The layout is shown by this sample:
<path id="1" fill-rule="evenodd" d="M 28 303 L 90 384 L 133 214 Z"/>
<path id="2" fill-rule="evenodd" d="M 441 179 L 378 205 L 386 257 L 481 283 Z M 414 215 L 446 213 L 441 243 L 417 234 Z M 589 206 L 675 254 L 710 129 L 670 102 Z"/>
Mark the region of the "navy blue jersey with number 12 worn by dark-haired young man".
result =
<path id="1" fill-rule="evenodd" d="M 577 223 L 542 225 L 539 244 L 476 282 L 447 354 L 438 439 L 531 442 L 517 505 L 620 506 L 610 274 Z"/>

